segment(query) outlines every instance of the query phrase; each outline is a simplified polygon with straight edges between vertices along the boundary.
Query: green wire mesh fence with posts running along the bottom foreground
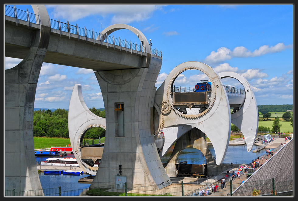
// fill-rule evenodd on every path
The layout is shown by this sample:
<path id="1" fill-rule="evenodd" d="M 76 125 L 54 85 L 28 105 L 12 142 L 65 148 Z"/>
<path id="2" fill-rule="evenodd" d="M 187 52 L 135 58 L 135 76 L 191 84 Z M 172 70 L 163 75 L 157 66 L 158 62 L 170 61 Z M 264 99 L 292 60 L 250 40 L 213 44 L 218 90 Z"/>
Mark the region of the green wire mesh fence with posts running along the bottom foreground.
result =
<path id="1" fill-rule="evenodd" d="M 125 183 L 63 192 L 61 187 L 22 192 L 7 190 L 5 196 L 202 196 L 200 190 L 203 190 L 204 196 L 293 196 L 293 180 L 276 183 L 273 178 L 239 183 L 228 178 L 225 188 L 219 181 L 190 184 L 182 180 L 171 183 L 132 188 Z M 212 185 L 218 186 L 216 191 L 212 190 Z"/>

